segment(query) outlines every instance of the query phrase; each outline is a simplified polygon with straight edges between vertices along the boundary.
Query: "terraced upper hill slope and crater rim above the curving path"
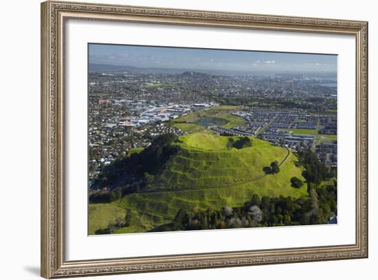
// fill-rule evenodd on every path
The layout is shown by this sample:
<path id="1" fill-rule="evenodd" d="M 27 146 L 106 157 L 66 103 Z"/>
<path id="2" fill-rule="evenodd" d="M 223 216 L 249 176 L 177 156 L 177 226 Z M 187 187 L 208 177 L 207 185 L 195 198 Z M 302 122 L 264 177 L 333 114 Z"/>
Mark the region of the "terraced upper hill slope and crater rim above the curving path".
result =
<path id="1" fill-rule="evenodd" d="M 240 138 L 202 133 L 180 137 L 177 145 L 181 149 L 156 178 L 154 190 L 203 189 L 247 183 L 265 176 L 263 167 L 272 161 L 281 163 L 288 154 L 285 148 L 252 137 L 249 137 L 252 147 L 230 148 L 230 141 L 236 142 Z M 297 171 L 294 172 L 296 176 L 301 176 L 302 170 L 295 165 L 293 169 Z M 274 183 L 285 185 L 290 178 L 277 176 Z"/>

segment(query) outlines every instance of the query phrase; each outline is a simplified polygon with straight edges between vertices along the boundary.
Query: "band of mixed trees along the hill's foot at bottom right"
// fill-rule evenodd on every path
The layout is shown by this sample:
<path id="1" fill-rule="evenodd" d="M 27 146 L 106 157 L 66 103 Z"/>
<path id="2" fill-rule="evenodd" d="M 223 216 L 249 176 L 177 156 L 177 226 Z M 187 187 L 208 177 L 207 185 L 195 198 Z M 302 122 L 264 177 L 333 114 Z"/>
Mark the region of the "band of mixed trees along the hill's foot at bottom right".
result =
<path id="1" fill-rule="evenodd" d="M 337 185 L 311 188 L 309 198 L 259 198 L 243 207 L 223 207 L 220 210 L 180 209 L 175 220 L 153 231 L 190 231 L 201 229 L 237 229 L 258 226 L 294 226 L 328 224 L 337 212 Z"/>

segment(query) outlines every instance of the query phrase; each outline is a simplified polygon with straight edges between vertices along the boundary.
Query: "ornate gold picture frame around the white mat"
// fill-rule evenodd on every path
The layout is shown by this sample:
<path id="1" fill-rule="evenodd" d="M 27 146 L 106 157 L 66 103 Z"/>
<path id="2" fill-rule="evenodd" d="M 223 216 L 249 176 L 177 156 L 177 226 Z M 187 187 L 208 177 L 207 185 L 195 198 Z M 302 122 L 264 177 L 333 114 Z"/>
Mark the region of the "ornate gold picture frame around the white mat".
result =
<path id="1" fill-rule="evenodd" d="M 65 23 L 67 19 L 354 36 L 356 44 L 355 242 L 337 246 L 67 261 L 65 257 Z M 43 277 L 109 275 L 365 257 L 368 257 L 367 22 L 60 1 L 47 1 L 41 4 L 41 275 Z"/>

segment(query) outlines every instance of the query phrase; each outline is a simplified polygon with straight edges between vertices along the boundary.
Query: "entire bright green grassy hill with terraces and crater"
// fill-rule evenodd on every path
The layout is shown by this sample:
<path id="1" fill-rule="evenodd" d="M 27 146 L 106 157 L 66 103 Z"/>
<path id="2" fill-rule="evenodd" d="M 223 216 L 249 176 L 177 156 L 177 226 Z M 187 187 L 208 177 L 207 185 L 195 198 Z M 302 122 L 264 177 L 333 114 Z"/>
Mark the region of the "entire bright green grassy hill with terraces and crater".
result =
<path id="1" fill-rule="evenodd" d="M 252 140 L 252 147 L 234 148 L 234 143 L 243 138 Z M 126 210 L 135 213 L 137 222 L 117 233 L 151 230 L 175 218 L 179 209 L 240 207 L 253 194 L 260 198 L 307 196 L 305 184 L 300 189 L 291 187 L 293 176 L 304 178 L 302 167 L 295 164 L 296 156 L 285 148 L 253 137 L 221 137 L 205 133 L 184 135 L 176 145 L 180 147 L 179 152 L 155 176 L 147 192 L 129 194 L 111 202 L 109 207 L 112 208 L 102 209 L 109 213 L 100 213 L 100 218 L 93 218 L 90 232 L 114 222 Z M 263 167 L 272 161 L 280 163 L 280 172 L 266 175 Z M 90 207 L 89 215 L 100 212 L 100 205 Z M 104 222 L 103 219 L 110 221 Z"/>

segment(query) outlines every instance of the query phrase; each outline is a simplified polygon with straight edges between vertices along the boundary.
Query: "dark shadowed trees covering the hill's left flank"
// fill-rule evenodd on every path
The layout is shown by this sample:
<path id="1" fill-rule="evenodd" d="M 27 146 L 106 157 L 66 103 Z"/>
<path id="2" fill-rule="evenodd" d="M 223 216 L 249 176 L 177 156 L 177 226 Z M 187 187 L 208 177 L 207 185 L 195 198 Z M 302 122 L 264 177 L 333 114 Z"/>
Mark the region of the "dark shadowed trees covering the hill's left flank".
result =
<path id="1" fill-rule="evenodd" d="M 179 147 L 173 144 L 176 140 L 174 133 L 160 135 L 139 154 L 131 154 L 105 167 L 93 188 L 108 187 L 109 191 L 98 191 L 89 197 L 89 201 L 109 202 L 151 187 L 155 174 L 179 151 Z"/>

